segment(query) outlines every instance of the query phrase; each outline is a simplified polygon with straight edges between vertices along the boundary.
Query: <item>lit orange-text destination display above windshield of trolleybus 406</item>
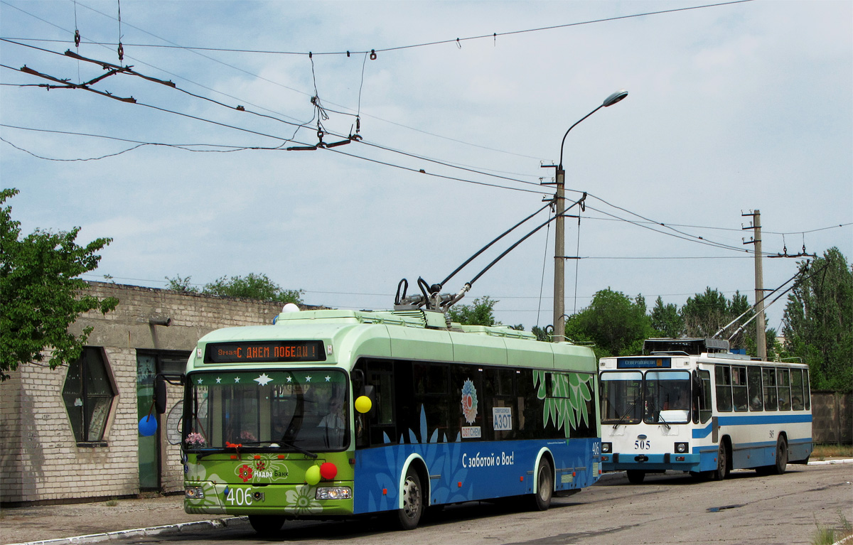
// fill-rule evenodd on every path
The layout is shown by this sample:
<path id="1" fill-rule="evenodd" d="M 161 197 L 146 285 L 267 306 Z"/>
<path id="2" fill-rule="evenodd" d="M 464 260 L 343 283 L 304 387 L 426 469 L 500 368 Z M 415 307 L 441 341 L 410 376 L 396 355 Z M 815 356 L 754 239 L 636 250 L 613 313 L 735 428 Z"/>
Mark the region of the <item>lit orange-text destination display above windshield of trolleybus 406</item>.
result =
<path id="1" fill-rule="evenodd" d="M 205 363 L 324 362 L 322 340 L 252 340 L 210 343 Z"/>

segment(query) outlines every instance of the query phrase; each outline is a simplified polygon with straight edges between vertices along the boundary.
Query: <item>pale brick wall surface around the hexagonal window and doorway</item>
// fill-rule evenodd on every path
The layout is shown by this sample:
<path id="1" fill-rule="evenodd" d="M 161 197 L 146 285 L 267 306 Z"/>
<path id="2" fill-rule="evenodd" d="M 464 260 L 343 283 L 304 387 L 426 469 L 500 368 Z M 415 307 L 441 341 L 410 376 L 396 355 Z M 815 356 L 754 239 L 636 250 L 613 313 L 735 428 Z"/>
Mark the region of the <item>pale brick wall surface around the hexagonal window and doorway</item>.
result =
<path id="1" fill-rule="evenodd" d="M 89 284 L 89 294 L 119 299 L 113 312 L 88 312 L 70 328 L 78 333 L 92 326 L 87 344 L 107 354 L 118 390 L 104 435 L 107 446 L 79 447 L 75 441 L 62 400 L 67 368 L 20 366 L 0 383 L 0 503 L 138 494 L 136 351 L 191 351 L 213 329 L 268 324 L 281 310 L 280 304 L 249 299 Z M 155 316 L 170 317 L 171 325 L 149 325 Z M 169 396 L 179 399 L 179 390 Z M 165 415 L 161 422 L 165 425 Z M 161 436 L 163 491 L 181 490 L 180 450 L 167 444 L 165 432 Z"/>

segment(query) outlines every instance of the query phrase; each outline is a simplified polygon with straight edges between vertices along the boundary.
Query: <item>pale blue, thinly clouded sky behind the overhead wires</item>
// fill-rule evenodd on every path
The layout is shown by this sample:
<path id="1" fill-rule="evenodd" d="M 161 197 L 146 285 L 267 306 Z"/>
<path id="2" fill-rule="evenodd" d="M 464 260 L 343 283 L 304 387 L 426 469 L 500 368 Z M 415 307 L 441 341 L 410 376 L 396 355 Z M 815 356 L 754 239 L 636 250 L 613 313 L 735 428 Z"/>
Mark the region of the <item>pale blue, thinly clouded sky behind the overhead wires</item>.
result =
<path id="1" fill-rule="evenodd" d="M 625 89 L 566 138 L 568 197 L 589 193 L 579 233 L 566 222 L 566 254 L 583 257 L 566 266 L 566 310 L 605 287 L 649 307 L 705 287 L 752 301 L 744 212 L 761 211 L 764 252 L 853 256 L 853 3 L 687 9 L 702 4 L 124 0 L 119 26 L 114 1 L 3 0 L 0 177 L 20 189 L 24 232 L 113 238 L 89 280 L 256 272 L 306 303 L 388 308 L 401 278 L 410 291 L 443 280 L 543 206 L 541 165 Z M 52 83 L 25 65 L 73 83 L 104 73 L 68 49 L 177 89 L 130 74 L 91 85 L 131 104 L 20 86 Z M 362 142 L 287 151 L 317 142 L 312 96 L 323 142 L 353 133 L 356 115 Z M 131 149 L 141 142 L 171 146 Z M 552 322 L 553 245 L 553 227 L 531 236 L 462 303 L 488 295 L 504 323 Z M 765 259 L 765 287 L 796 267 Z"/>

